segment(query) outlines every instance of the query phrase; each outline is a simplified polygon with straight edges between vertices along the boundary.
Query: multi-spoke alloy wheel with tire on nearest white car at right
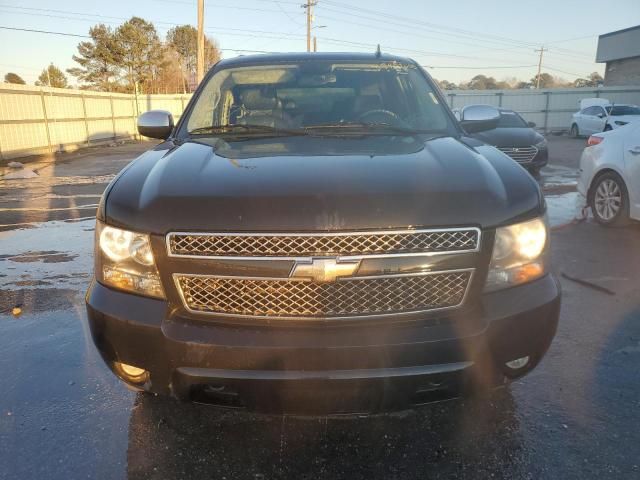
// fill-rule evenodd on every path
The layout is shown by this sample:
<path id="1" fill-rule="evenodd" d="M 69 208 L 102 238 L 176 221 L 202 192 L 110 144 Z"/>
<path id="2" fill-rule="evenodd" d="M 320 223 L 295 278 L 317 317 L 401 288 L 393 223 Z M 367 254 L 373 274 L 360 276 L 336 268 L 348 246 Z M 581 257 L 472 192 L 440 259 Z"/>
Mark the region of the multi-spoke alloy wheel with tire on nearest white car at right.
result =
<path id="1" fill-rule="evenodd" d="M 589 206 L 601 225 L 621 227 L 629 224 L 629 193 L 624 180 L 615 172 L 603 173 L 593 181 Z"/>

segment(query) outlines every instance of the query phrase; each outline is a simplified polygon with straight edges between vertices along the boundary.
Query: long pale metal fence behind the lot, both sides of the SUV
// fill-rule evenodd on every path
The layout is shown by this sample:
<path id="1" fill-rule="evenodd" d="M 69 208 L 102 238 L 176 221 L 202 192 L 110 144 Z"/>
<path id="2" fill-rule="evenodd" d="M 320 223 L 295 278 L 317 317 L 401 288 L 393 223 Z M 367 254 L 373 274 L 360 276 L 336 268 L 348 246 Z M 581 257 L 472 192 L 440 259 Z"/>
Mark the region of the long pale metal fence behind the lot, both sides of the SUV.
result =
<path id="1" fill-rule="evenodd" d="M 640 86 L 444 93 L 452 108 L 473 103 L 510 108 L 545 131 L 568 129 L 582 98 L 640 104 Z M 0 84 L 0 159 L 132 138 L 139 113 L 164 109 L 177 120 L 189 98 L 189 94 L 141 95 L 136 106 L 134 96 L 127 94 Z"/>

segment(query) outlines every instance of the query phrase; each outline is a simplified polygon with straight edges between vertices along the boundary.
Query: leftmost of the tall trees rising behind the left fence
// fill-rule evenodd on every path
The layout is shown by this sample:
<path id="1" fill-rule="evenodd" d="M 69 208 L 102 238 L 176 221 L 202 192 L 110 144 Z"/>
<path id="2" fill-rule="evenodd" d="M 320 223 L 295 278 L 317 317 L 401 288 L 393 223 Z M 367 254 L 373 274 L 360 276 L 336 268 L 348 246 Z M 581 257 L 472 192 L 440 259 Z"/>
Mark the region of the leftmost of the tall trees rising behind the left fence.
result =
<path id="1" fill-rule="evenodd" d="M 78 55 L 73 60 L 80 67 L 70 68 L 68 73 L 90 88 L 110 92 L 118 90 L 117 82 L 123 52 L 111 28 L 100 24 L 89 30 L 90 41 L 78 44 Z"/>

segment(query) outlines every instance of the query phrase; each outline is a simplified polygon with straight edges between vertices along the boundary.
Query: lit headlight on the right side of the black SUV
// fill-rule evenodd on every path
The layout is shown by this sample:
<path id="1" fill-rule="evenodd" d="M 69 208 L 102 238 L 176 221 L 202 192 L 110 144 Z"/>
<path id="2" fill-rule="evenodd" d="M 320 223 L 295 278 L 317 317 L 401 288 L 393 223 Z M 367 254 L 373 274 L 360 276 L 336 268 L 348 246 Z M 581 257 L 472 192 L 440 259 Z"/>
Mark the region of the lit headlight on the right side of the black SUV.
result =
<path id="1" fill-rule="evenodd" d="M 543 218 L 496 230 L 486 290 L 530 282 L 546 273 L 549 233 Z"/>

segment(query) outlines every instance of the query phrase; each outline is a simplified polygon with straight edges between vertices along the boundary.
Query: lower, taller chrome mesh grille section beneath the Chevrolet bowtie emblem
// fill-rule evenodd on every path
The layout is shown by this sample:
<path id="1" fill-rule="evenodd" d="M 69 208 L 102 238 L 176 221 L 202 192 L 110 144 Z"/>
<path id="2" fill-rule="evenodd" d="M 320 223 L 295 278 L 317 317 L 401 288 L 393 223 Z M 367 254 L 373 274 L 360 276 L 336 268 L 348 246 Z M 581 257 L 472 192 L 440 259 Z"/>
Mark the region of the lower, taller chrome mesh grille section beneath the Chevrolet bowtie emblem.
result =
<path id="1" fill-rule="evenodd" d="M 350 278 L 332 283 L 176 274 L 192 312 L 232 316 L 327 318 L 457 307 L 471 270 Z"/>

